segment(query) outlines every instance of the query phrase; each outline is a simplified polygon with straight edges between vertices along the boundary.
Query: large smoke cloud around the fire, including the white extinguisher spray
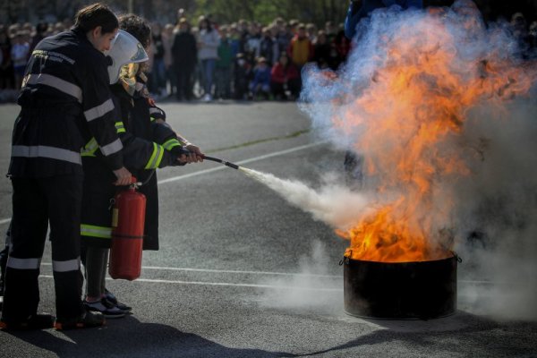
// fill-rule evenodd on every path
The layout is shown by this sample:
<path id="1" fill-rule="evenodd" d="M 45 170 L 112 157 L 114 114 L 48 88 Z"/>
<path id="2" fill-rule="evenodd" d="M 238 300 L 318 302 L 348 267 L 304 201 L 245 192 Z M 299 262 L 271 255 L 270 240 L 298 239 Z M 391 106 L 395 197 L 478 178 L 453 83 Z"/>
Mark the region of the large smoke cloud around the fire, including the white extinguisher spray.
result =
<path id="1" fill-rule="evenodd" d="M 306 69 L 301 95 L 322 139 L 364 158 L 361 190 L 250 175 L 337 229 L 392 205 L 413 233 L 448 232 L 459 307 L 536 320 L 537 66 L 513 33 L 467 0 L 376 10 L 338 72 Z"/>

